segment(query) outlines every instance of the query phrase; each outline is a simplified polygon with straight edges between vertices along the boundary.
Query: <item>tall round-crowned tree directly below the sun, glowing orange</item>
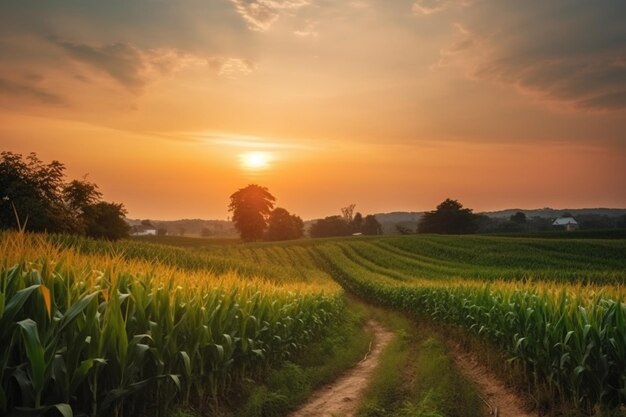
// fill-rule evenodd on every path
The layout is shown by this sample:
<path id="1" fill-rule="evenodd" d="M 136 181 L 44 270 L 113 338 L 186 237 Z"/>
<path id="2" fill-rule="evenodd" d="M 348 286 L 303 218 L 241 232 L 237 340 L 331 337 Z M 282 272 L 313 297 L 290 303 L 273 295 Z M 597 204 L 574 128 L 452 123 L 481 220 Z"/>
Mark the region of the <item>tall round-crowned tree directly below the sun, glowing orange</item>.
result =
<path id="1" fill-rule="evenodd" d="M 261 240 L 267 228 L 267 219 L 276 198 L 266 187 L 250 184 L 230 196 L 228 211 L 233 212 L 233 222 L 241 239 Z"/>

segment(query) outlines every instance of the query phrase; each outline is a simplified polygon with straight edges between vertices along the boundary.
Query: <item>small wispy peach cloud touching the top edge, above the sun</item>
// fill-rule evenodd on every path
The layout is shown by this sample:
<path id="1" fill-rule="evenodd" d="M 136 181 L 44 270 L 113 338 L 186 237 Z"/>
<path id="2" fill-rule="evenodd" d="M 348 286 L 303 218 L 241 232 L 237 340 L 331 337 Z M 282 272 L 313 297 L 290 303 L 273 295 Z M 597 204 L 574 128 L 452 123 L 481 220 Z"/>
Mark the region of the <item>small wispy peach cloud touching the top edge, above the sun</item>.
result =
<path id="1" fill-rule="evenodd" d="M 265 32 L 278 20 L 281 13 L 309 4 L 308 0 L 230 0 L 248 29 Z"/>

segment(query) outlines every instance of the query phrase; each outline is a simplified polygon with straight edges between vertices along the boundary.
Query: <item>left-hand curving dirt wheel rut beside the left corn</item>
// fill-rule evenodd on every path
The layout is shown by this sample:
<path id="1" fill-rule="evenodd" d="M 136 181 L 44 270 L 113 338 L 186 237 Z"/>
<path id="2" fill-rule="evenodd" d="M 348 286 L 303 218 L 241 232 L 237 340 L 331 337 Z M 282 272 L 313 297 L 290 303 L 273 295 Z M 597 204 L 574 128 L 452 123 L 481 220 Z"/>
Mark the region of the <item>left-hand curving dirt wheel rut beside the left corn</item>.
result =
<path id="1" fill-rule="evenodd" d="M 372 378 L 380 355 L 393 338 L 393 333 L 380 323 L 370 320 L 374 341 L 369 355 L 334 383 L 317 390 L 309 401 L 289 417 L 351 417 L 357 410 L 359 399 Z"/>

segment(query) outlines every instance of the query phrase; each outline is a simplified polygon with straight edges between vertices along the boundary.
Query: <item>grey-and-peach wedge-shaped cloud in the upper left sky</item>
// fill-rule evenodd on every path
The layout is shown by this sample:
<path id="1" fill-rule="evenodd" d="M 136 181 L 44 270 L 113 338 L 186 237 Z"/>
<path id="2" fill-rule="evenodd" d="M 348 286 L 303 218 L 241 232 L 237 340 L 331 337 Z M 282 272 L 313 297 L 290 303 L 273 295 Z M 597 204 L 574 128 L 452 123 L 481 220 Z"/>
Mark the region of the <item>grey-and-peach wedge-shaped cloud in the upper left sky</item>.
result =
<path id="1" fill-rule="evenodd" d="M 131 92 L 139 93 L 157 76 L 169 75 L 206 60 L 177 49 L 142 50 L 128 43 L 93 46 L 50 38 L 75 61 L 107 74 Z"/>

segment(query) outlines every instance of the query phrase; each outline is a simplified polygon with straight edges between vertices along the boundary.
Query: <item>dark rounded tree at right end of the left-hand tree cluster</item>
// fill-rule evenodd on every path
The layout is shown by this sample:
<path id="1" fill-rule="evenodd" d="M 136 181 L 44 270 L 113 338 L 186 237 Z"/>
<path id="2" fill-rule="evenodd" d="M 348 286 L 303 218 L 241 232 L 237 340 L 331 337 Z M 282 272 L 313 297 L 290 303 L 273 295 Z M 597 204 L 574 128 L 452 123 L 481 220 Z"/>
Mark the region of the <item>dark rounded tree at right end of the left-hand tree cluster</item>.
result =
<path id="1" fill-rule="evenodd" d="M 127 237 L 130 226 L 124 220 L 126 210 L 122 204 L 101 201 L 86 207 L 87 236 L 97 239 L 117 240 Z"/>

